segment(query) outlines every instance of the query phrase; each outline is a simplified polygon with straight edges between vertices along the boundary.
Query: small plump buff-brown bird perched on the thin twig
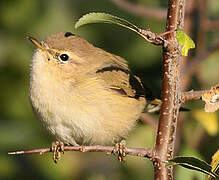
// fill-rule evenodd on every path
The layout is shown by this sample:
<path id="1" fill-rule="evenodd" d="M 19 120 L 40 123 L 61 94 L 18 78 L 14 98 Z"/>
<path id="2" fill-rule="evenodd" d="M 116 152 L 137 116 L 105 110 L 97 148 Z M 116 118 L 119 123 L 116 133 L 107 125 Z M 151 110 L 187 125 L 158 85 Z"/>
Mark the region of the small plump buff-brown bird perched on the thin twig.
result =
<path id="1" fill-rule="evenodd" d="M 146 106 L 141 80 L 127 62 L 71 32 L 37 41 L 29 96 L 44 126 L 68 145 L 125 138 Z"/>

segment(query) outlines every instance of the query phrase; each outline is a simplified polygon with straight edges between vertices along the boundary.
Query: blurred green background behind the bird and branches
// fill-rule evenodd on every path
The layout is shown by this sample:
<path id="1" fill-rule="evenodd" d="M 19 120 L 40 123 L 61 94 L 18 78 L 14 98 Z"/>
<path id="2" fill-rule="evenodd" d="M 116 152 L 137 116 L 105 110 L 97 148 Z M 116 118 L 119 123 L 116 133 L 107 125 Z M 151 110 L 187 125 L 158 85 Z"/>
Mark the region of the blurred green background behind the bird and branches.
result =
<path id="1" fill-rule="evenodd" d="M 167 7 L 167 2 L 162 0 L 131 2 Z M 219 18 L 219 1 L 209 0 L 208 10 L 212 18 Z M 49 147 L 54 140 L 34 117 L 29 103 L 30 60 L 35 47 L 26 39 L 27 35 L 42 40 L 55 32 L 76 33 L 95 46 L 127 59 L 132 71 L 143 79 L 155 96 L 160 96 L 162 49 L 114 25 L 87 25 L 75 30 L 77 19 L 89 12 L 111 13 L 142 28 L 150 27 L 158 33 L 165 31 L 164 20 L 137 17 L 108 0 L 0 1 L 0 179 L 153 179 L 151 162 L 137 157 L 127 157 L 125 163 L 119 163 L 116 157 L 104 153 L 67 152 L 55 164 L 52 154 L 7 155 L 8 151 Z M 206 46 L 218 39 L 219 32 L 210 31 L 207 37 Z M 191 54 L 194 55 L 195 50 Z M 209 89 L 218 83 L 218 59 L 219 51 L 203 61 L 187 89 Z M 211 119 L 206 124 L 200 120 L 203 115 L 198 111 L 204 107 L 202 102 L 190 102 L 185 106 L 191 111 L 181 115 L 185 120 L 179 127 L 177 154 L 194 155 L 210 163 L 211 156 L 219 147 L 218 112 L 213 117 L 204 114 L 205 121 Z M 153 118 L 157 121 L 158 115 L 153 115 Z M 151 126 L 139 123 L 127 139 L 128 146 L 152 147 L 155 135 L 156 131 Z M 177 180 L 195 177 L 204 179 L 200 173 L 183 168 L 176 170 Z"/>

